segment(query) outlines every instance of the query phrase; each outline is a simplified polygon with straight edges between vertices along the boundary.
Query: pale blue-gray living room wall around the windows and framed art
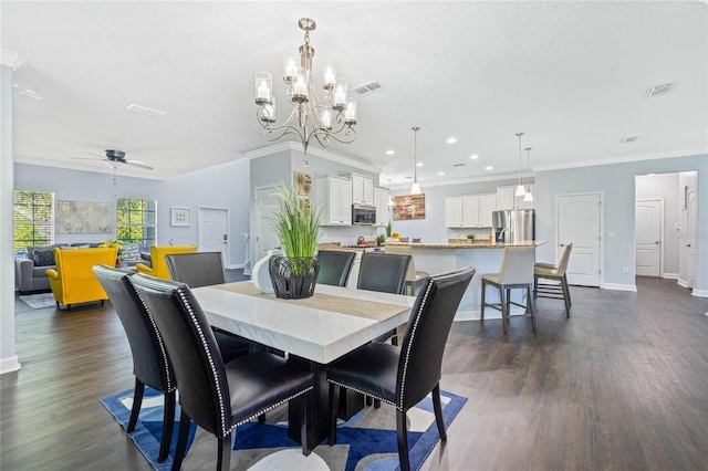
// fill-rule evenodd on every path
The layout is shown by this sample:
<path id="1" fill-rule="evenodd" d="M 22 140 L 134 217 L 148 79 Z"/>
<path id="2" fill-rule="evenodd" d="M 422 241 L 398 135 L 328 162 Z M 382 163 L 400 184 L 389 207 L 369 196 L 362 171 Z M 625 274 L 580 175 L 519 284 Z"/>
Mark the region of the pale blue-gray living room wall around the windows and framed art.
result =
<path id="1" fill-rule="evenodd" d="M 249 232 L 249 161 L 233 160 L 196 170 L 168 180 L 150 180 L 93 171 L 67 170 L 27 164 L 14 165 L 14 188 L 52 191 L 58 200 L 115 202 L 116 198 L 157 201 L 157 243 L 197 243 L 200 206 L 229 209 L 231 243 L 228 265 L 242 265 L 246 243 L 240 237 Z M 170 226 L 170 207 L 191 209 L 189 227 Z M 56 234 L 58 242 L 97 242 L 114 234 Z"/>

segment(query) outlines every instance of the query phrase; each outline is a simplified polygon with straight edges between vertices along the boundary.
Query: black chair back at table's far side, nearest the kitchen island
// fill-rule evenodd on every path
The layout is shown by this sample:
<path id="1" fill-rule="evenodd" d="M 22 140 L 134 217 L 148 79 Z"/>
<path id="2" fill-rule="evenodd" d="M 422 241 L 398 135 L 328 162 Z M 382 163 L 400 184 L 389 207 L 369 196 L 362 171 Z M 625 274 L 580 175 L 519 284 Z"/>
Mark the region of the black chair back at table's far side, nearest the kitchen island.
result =
<path id="1" fill-rule="evenodd" d="M 382 293 L 403 294 L 406 287 L 406 274 L 410 255 L 397 253 L 362 253 L 358 269 L 358 290 L 378 291 Z"/>

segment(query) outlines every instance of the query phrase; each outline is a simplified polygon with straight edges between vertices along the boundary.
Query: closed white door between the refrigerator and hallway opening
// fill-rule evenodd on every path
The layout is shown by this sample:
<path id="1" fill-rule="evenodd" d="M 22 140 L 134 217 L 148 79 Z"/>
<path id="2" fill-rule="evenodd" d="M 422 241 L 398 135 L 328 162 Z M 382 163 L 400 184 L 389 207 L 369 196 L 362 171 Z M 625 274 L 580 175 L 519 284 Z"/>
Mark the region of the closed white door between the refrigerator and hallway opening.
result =
<path id="1" fill-rule="evenodd" d="M 601 195 L 561 195 L 558 197 L 558 243 L 573 244 L 568 264 L 568 282 L 600 286 L 601 274 Z M 558 258 L 559 255 L 556 255 Z"/>

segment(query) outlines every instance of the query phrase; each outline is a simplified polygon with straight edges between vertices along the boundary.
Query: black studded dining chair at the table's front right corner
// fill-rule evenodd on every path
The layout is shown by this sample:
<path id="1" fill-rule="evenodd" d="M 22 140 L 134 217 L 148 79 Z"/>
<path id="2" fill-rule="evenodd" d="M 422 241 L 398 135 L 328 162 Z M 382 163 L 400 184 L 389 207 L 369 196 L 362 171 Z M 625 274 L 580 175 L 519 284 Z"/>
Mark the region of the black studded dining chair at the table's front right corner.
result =
<path id="1" fill-rule="evenodd" d="M 367 344 L 327 366 L 330 383 L 330 446 L 336 442 L 336 407 L 340 388 L 364 393 L 396 408 L 400 469 L 410 469 L 406 411 L 429 393 L 440 439 L 446 440 L 440 378 L 445 343 L 460 300 L 475 269 L 425 279 L 410 311 L 400 348 Z"/>

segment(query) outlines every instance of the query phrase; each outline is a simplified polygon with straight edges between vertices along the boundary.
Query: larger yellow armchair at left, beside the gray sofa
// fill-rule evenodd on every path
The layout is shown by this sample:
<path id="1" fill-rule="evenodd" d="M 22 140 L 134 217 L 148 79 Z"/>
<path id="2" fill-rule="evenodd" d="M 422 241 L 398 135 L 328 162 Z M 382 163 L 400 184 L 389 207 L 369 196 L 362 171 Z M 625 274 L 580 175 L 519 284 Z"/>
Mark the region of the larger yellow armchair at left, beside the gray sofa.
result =
<path id="1" fill-rule="evenodd" d="M 60 303 L 67 310 L 72 304 L 103 302 L 108 295 L 101 286 L 98 279 L 91 268 L 94 265 L 115 266 L 118 255 L 117 248 L 106 249 L 54 249 L 56 269 L 45 271 L 49 276 L 49 285 L 54 293 L 56 307 Z"/>

